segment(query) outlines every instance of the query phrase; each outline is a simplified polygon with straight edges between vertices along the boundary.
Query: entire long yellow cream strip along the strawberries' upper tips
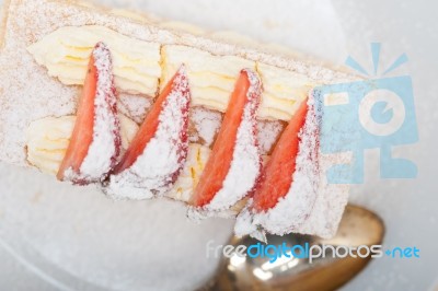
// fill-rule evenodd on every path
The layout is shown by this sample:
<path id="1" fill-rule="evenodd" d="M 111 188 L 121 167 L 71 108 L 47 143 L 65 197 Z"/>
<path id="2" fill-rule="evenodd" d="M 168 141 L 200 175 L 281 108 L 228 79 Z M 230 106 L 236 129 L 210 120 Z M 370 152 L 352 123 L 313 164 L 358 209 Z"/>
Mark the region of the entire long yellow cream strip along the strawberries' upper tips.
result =
<path id="1" fill-rule="evenodd" d="M 163 88 L 185 63 L 192 104 L 224 113 L 240 70 L 251 68 L 264 85 L 258 117 L 288 121 L 312 86 L 307 77 L 277 67 L 187 46 L 161 46 L 96 25 L 61 27 L 31 45 L 28 51 L 49 75 L 67 85 L 81 85 L 97 42 L 106 43 L 112 51 L 115 83 L 122 92 L 155 96 L 160 84 Z"/>

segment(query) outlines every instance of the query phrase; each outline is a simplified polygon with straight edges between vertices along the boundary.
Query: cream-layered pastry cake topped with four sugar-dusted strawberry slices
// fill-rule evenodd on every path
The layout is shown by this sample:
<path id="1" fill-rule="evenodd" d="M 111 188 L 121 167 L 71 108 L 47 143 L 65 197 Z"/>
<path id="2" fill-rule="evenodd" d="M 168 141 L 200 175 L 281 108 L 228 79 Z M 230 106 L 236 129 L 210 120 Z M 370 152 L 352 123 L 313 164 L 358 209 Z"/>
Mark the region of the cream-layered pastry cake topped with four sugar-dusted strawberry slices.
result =
<path id="1" fill-rule="evenodd" d="M 355 77 L 83 2 L 3 11 L 2 161 L 114 199 L 183 201 L 195 220 L 235 218 L 237 235 L 336 232 L 348 186 L 326 182 L 343 158 L 320 151 L 312 88 Z"/>

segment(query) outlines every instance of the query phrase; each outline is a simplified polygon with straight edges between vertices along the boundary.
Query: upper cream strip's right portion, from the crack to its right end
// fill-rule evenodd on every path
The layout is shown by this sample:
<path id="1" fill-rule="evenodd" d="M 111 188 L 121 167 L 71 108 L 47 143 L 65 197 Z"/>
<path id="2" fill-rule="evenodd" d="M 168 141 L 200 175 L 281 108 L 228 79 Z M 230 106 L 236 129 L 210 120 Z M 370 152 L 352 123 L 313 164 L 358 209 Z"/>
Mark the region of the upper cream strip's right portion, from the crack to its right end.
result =
<path id="1" fill-rule="evenodd" d="M 242 68 L 255 69 L 261 75 L 264 88 L 257 113 L 261 119 L 290 120 L 314 85 L 297 72 L 234 56 L 215 56 L 187 46 L 165 45 L 162 54 L 163 80 L 170 80 L 180 63 L 186 63 L 193 105 L 221 113 L 227 110 L 234 81 Z"/>

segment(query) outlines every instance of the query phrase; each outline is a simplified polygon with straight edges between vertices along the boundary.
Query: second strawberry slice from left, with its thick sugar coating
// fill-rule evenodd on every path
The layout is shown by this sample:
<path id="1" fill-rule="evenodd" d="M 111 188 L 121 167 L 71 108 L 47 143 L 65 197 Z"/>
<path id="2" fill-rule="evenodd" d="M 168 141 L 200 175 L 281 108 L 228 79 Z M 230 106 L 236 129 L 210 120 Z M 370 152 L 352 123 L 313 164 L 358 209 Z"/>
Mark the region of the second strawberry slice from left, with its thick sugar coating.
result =
<path id="1" fill-rule="evenodd" d="M 191 92 L 184 65 L 166 84 L 122 161 L 106 193 L 146 199 L 164 194 L 176 181 L 188 151 Z"/>

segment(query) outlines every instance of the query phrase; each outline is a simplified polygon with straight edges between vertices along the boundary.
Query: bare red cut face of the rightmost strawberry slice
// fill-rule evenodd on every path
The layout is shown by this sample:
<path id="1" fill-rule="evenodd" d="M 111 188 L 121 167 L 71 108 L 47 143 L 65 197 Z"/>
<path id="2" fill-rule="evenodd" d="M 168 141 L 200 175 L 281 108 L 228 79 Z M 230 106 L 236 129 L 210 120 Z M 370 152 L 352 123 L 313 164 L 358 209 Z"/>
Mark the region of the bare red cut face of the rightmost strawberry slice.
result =
<path id="1" fill-rule="evenodd" d="M 306 123 L 308 102 L 303 101 L 289 125 L 281 133 L 270 160 L 263 168 L 253 197 L 253 209 L 257 212 L 267 211 L 285 197 L 292 183 L 296 171 L 296 160 L 299 150 L 299 132 Z"/>

